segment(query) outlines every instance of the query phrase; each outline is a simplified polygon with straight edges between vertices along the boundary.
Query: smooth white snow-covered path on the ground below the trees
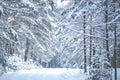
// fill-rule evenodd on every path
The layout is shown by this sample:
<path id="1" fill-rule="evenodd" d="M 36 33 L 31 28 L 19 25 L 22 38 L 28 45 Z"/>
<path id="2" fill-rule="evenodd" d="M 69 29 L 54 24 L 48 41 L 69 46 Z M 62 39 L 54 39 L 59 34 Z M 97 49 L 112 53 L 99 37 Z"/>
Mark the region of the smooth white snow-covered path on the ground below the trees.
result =
<path id="1" fill-rule="evenodd" d="M 0 80 L 85 80 L 85 75 L 79 69 L 35 69 L 10 72 L 0 77 Z"/>

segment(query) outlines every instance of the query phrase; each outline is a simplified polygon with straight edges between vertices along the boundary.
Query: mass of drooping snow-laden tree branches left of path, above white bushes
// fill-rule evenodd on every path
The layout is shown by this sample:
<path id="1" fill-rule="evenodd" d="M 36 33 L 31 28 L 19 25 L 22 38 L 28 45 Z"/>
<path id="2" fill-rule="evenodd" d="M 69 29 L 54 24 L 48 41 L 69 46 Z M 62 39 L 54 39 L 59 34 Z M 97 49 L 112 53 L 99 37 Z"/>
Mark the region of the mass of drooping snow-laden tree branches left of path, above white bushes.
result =
<path id="1" fill-rule="evenodd" d="M 48 18 L 49 0 L 0 1 L 0 63 L 7 66 L 7 57 L 21 57 L 48 62 L 54 55 L 54 28 Z M 19 62 L 19 61 L 18 61 Z"/>

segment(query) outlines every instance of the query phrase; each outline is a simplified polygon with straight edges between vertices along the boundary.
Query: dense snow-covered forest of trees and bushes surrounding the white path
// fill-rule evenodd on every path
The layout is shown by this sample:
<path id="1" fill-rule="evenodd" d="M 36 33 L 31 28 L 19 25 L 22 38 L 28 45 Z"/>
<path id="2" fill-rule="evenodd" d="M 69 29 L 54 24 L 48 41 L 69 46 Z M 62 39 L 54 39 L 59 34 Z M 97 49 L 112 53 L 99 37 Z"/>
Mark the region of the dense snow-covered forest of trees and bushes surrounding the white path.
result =
<path id="1" fill-rule="evenodd" d="M 117 80 L 120 0 L 0 0 L 0 74 L 43 67 Z"/>

